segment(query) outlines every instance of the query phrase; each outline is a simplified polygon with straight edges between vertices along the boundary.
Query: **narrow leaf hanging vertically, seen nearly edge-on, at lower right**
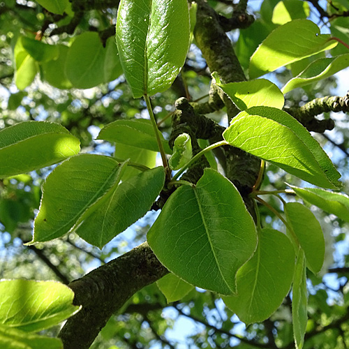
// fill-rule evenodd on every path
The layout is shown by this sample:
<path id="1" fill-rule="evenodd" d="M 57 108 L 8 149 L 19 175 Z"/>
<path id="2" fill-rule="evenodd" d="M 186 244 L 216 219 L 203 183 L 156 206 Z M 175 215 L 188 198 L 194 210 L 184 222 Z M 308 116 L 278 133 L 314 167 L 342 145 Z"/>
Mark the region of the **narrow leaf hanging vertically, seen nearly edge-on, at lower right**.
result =
<path id="1" fill-rule="evenodd" d="M 306 313 L 307 303 L 306 262 L 304 251 L 300 249 L 297 257 L 292 287 L 292 323 L 293 335 L 295 336 L 295 344 L 297 349 L 303 348 L 306 322 L 308 320 L 308 314 Z"/>

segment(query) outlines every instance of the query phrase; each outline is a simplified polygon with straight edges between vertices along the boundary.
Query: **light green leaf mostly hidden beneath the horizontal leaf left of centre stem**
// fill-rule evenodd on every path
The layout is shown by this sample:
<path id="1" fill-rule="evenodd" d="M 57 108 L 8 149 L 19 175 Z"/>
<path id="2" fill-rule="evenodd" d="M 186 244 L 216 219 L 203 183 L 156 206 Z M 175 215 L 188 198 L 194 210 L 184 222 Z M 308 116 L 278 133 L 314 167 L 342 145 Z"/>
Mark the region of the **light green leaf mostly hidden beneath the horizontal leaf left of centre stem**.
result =
<path id="1" fill-rule="evenodd" d="M 131 145 L 116 143 L 114 157 L 124 161 L 130 159 L 133 163 L 140 163 L 141 165 L 147 166 L 147 168 L 154 168 L 156 165 L 156 151 L 148 149 L 140 149 L 138 147 L 132 147 Z M 119 160 L 118 160 L 119 161 Z M 136 176 L 140 173 L 138 168 L 127 166 L 121 179 L 127 181 L 127 179 Z"/>

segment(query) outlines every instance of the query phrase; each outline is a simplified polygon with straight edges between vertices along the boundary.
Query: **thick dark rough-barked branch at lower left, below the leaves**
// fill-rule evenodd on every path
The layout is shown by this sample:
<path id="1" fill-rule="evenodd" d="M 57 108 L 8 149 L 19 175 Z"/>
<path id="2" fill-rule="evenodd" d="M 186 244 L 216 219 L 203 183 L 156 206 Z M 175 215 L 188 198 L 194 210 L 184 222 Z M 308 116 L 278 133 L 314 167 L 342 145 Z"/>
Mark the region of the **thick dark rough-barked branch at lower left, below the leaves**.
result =
<path id="1" fill-rule="evenodd" d="M 61 329 L 59 337 L 64 349 L 89 348 L 128 298 L 167 273 L 145 242 L 70 283 L 75 292 L 74 304 L 82 305 L 82 310 Z"/>

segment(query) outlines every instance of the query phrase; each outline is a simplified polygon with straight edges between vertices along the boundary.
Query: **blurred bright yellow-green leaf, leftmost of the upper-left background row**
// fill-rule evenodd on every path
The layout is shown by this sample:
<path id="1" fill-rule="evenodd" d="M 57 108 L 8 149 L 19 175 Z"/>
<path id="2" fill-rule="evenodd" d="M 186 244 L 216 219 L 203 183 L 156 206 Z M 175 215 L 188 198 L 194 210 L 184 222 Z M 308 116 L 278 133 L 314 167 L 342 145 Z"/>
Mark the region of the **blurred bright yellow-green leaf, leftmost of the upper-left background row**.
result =
<path id="1" fill-rule="evenodd" d="M 15 56 L 15 84 L 22 90 L 33 82 L 38 73 L 38 64 L 35 59 L 25 50 L 22 44 L 22 37 L 18 38 L 14 50 Z"/>

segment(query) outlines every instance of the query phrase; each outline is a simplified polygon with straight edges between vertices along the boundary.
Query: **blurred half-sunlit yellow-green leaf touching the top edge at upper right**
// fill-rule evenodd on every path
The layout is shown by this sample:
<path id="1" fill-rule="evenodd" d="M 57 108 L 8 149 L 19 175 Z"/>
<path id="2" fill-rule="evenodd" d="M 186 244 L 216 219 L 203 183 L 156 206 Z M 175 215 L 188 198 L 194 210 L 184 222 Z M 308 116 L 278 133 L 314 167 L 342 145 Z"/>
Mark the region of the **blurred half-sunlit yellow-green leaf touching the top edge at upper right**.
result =
<path id="1" fill-rule="evenodd" d="M 285 24 L 292 20 L 306 19 L 309 16 L 310 8 L 306 1 L 285 0 L 276 4 L 272 22 L 274 24 Z"/>

